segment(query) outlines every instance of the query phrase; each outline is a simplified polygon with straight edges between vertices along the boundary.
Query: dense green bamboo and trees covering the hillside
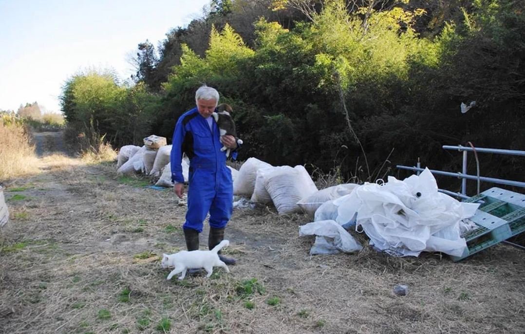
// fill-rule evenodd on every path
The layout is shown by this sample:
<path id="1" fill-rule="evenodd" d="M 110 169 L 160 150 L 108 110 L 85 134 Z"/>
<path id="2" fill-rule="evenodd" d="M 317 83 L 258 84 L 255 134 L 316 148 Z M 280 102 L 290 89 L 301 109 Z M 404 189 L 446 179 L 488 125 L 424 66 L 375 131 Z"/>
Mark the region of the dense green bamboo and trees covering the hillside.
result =
<path id="1" fill-rule="evenodd" d="M 245 142 L 239 159 L 309 163 L 337 170 L 341 180 L 375 181 L 391 164 L 418 158 L 458 170 L 460 156 L 443 144 L 525 144 L 524 7 L 512 0 L 213 1 L 203 18 L 169 32 L 158 53 L 148 41 L 139 45 L 137 85 L 119 85 L 111 74 L 74 76 L 62 108 L 75 135 L 106 134 L 117 145 L 145 133 L 170 140 L 206 84 L 233 106 Z M 476 107 L 461 114 L 460 103 L 470 101 Z M 486 158 L 481 168 L 519 178 L 510 158 Z"/>

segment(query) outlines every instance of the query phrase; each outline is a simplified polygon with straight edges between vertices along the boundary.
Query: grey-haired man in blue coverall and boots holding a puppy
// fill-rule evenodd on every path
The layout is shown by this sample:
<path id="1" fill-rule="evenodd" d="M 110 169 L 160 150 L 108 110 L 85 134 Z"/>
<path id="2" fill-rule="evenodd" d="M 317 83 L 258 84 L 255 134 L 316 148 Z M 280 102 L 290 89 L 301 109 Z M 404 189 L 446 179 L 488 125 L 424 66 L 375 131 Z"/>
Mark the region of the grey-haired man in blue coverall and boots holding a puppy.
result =
<path id="1" fill-rule="evenodd" d="M 188 250 L 199 248 L 199 233 L 209 212 L 208 248 L 212 249 L 224 239 L 224 228 L 233 211 L 232 172 L 226 167 L 226 153 L 220 151 L 225 145 L 237 149 L 231 135 L 220 137 L 217 124 L 211 117 L 219 102 L 219 93 L 211 87 L 202 86 L 195 93 L 197 107 L 182 114 L 173 132 L 171 150 L 171 178 L 173 190 L 182 198 L 182 153 L 190 159 L 188 186 L 188 211 L 184 223 L 184 238 Z M 235 152 L 236 153 L 236 152 Z M 235 259 L 219 254 L 227 265 Z"/>

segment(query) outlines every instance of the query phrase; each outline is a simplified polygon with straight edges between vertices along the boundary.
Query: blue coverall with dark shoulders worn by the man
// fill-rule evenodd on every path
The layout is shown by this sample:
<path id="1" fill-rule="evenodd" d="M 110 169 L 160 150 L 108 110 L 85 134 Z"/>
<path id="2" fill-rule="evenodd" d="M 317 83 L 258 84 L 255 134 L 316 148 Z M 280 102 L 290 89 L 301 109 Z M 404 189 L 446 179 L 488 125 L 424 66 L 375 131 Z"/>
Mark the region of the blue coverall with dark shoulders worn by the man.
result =
<path id="1" fill-rule="evenodd" d="M 197 108 L 182 114 L 173 131 L 171 178 L 183 183 L 182 153 L 190 159 L 188 211 L 183 228 L 201 233 L 209 212 L 209 225 L 223 228 L 233 211 L 232 171 L 226 166 L 226 152 L 220 151 L 219 129 L 215 121 L 210 130 Z M 233 152 L 236 155 L 237 152 Z"/>

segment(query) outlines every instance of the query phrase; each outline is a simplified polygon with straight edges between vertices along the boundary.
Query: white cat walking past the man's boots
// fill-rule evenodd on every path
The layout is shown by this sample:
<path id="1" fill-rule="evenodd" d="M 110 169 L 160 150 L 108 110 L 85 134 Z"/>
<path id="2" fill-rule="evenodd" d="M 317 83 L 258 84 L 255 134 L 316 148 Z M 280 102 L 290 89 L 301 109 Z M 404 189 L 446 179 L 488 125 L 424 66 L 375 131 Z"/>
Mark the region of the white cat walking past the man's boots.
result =
<path id="1" fill-rule="evenodd" d="M 162 254 L 162 268 L 175 267 L 170 275 L 167 275 L 167 279 L 170 280 L 174 275 L 182 273 L 178 279 L 184 279 L 186 276 L 187 269 L 204 268 L 208 275 L 212 276 L 213 267 L 223 267 L 226 273 L 229 273 L 228 266 L 219 259 L 217 252 L 229 245 L 229 241 L 223 240 L 217 246 L 213 247 L 212 250 L 181 250 L 181 252 L 175 254 Z"/>

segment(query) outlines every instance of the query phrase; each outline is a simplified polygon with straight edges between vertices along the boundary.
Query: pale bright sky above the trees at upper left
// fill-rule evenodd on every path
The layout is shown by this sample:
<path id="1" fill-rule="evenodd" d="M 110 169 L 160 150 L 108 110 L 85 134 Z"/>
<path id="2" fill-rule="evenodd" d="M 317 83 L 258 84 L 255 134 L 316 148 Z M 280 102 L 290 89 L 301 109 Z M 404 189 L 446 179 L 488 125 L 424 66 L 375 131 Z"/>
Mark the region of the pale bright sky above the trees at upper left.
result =
<path id="1" fill-rule="evenodd" d="M 0 110 L 38 102 L 60 112 L 64 82 L 86 69 L 122 80 L 137 45 L 203 16 L 209 0 L 0 0 Z"/>

